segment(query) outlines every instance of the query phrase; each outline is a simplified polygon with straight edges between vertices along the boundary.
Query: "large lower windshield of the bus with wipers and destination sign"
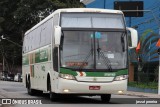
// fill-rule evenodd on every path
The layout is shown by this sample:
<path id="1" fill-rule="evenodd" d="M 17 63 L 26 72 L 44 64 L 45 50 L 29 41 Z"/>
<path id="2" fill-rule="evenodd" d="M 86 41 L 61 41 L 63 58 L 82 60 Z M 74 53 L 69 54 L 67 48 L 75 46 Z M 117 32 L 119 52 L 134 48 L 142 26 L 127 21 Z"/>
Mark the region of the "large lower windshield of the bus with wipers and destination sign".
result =
<path id="1" fill-rule="evenodd" d="M 127 67 L 124 32 L 63 31 L 61 67 L 113 70 Z"/>

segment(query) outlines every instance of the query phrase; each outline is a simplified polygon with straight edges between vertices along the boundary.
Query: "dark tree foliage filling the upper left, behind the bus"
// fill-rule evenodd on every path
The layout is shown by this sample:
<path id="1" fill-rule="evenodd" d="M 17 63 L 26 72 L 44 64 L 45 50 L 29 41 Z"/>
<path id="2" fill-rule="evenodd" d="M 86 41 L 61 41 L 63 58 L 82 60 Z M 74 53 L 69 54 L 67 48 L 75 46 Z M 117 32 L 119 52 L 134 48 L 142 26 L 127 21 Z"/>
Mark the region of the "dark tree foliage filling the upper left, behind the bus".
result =
<path id="1" fill-rule="evenodd" d="M 79 0 L 1 0 L 0 36 L 22 45 L 24 33 L 59 8 L 83 7 Z M 11 65 L 21 65 L 22 48 L 1 40 L 0 55 L 5 57 L 8 69 Z M 2 62 L 2 57 L 0 57 Z"/>

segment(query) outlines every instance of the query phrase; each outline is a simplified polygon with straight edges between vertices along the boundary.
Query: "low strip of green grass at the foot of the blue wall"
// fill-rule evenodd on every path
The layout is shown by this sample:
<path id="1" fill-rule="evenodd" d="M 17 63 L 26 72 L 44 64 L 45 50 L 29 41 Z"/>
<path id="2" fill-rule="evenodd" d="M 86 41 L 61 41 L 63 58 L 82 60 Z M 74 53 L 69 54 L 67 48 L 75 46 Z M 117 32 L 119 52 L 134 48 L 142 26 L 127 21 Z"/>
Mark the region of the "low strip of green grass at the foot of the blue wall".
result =
<path id="1" fill-rule="evenodd" d="M 142 82 L 129 82 L 128 86 L 137 88 L 158 89 L 158 83 L 156 82 L 149 82 L 148 84 Z"/>

